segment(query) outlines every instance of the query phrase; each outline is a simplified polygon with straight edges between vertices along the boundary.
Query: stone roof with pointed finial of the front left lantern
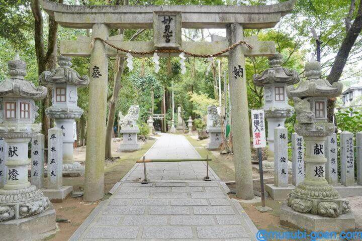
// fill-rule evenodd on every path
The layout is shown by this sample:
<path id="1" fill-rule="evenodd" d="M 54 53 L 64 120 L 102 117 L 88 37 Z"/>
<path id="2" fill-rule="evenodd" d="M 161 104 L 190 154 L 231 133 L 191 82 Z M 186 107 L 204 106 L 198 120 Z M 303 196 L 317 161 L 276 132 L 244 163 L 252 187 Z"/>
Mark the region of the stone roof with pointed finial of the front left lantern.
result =
<path id="1" fill-rule="evenodd" d="M 26 63 L 17 54 L 14 60 L 8 62 L 9 79 L 0 83 L 1 97 L 25 97 L 35 100 L 43 99 L 47 94 L 44 86 L 35 86 L 32 82 L 25 80 Z"/>

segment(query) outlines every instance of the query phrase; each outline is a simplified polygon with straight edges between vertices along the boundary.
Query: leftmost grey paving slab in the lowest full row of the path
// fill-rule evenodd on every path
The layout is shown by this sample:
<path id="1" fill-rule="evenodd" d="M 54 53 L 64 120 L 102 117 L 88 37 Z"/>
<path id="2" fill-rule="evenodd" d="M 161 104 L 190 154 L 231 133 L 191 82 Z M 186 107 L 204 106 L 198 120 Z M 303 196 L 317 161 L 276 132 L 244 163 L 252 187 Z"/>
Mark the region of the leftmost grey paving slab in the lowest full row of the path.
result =
<path id="1" fill-rule="evenodd" d="M 86 238 L 136 238 L 139 227 L 92 227 L 84 237 Z"/>

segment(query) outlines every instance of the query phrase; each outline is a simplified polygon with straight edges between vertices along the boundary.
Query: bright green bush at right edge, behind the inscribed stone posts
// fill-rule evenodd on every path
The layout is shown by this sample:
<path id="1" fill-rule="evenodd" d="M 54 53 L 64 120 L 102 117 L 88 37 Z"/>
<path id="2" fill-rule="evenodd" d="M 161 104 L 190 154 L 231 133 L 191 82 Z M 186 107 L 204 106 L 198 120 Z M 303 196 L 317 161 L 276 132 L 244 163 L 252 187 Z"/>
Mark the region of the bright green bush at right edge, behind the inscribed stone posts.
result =
<path id="1" fill-rule="evenodd" d="M 352 108 L 349 108 L 348 110 L 338 110 L 335 114 L 335 118 L 338 129 L 342 132 L 348 131 L 357 133 L 362 131 L 362 113 L 359 111 L 353 111 Z"/>

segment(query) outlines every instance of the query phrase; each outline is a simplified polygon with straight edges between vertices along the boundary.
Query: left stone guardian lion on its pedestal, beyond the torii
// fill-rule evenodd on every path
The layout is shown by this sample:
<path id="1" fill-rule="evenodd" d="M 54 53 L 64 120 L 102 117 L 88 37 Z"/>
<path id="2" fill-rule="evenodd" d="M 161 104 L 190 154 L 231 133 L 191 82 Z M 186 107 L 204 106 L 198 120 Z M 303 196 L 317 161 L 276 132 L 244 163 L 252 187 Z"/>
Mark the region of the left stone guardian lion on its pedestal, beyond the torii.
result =
<path id="1" fill-rule="evenodd" d="M 118 123 L 121 127 L 120 133 L 123 134 L 123 143 L 118 146 L 118 152 L 133 152 L 141 149 L 140 144 L 137 142 L 137 133 L 139 133 L 137 126 L 138 116 L 139 106 L 131 105 L 128 113 Z"/>

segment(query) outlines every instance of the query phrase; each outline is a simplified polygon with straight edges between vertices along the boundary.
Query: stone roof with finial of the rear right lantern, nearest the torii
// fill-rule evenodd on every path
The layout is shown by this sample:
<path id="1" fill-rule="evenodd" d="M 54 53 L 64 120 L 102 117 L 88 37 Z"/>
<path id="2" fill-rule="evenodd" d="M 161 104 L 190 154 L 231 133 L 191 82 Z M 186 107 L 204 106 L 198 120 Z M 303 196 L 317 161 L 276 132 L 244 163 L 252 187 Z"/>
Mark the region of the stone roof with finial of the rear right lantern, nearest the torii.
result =
<path id="1" fill-rule="evenodd" d="M 297 71 L 290 70 L 281 66 L 283 55 L 275 54 L 268 57 L 270 68 L 264 70 L 261 74 L 252 76 L 255 86 L 264 86 L 271 83 L 286 83 L 288 85 L 296 84 L 300 81 Z"/>

